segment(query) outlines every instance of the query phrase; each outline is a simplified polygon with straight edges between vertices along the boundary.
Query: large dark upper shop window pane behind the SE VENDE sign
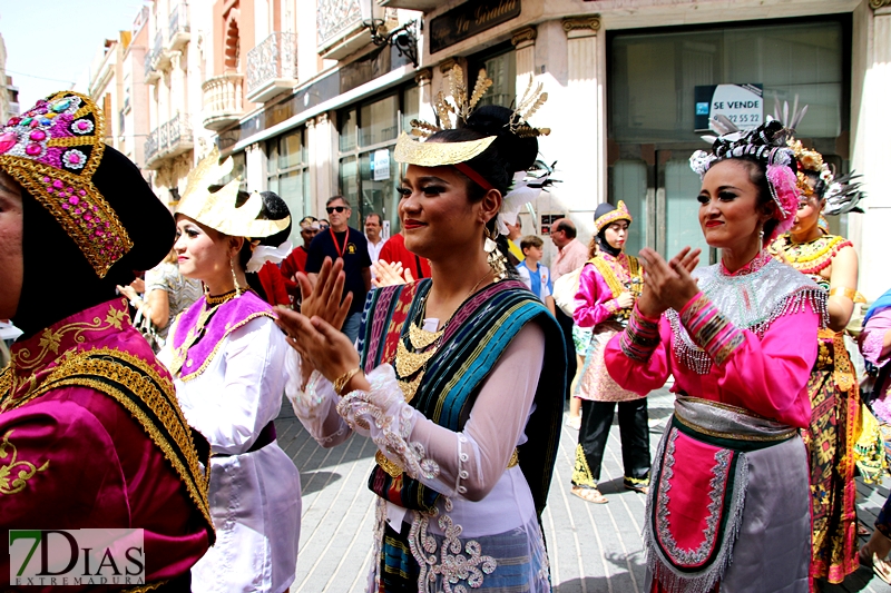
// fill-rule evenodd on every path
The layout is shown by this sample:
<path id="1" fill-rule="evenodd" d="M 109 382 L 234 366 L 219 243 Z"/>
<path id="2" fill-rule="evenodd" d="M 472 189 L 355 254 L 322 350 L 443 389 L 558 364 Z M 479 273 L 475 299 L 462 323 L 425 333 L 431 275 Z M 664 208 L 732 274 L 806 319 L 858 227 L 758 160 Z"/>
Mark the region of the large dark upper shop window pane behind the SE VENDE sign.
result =
<path id="1" fill-rule="evenodd" d="M 839 21 L 621 33 L 610 42 L 610 136 L 619 142 L 697 141 L 697 86 L 762 85 L 809 105 L 805 138 L 836 138 L 844 100 L 844 31 Z"/>

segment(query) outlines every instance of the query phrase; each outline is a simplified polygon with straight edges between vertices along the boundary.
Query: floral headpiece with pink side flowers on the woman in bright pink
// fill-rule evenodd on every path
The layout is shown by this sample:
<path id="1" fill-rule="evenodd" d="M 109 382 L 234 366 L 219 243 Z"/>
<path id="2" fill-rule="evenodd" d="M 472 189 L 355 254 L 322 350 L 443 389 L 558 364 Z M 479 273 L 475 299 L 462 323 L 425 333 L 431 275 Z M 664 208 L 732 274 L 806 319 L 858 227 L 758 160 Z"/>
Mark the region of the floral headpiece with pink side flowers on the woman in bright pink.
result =
<path id="1" fill-rule="evenodd" d="M 721 136 L 704 137 L 714 139 L 712 152 L 694 152 L 689 158 L 691 168 L 703 178 L 708 168 L 719 160 L 748 157 L 764 162 L 771 197 L 777 206 L 776 219 L 780 220 L 774 233 L 789 230 L 800 199 L 795 158 L 786 144 L 789 129 L 777 120 L 770 120 L 757 128 L 741 130 L 724 116 L 713 118 L 711 127 Z"/>

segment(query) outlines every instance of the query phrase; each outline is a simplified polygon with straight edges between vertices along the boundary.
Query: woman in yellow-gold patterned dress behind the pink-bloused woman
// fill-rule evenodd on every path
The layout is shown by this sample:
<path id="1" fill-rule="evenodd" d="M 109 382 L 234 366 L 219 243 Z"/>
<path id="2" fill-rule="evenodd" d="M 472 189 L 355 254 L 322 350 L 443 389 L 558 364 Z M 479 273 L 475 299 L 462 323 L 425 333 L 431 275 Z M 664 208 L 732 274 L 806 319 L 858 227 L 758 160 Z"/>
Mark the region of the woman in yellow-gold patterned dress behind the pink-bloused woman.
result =
<path id="1" fill-rule="evenodd" d="M 823 214 L 862 211 L 856 208 L 862 196 L 851 176 L 834 177 L 820 152 L 800 140 L 790 139 L 789 146 L 799 161 L 801 202 L 792 228 L 770 251 L 829 295 L 829 327 L 820 330 L 820 354 L 807 382 L 811 423 L 802 436 L 811 457 L 811 575 L 841 583 L 858 569 L 854 432 L 860 389 L 844 336 L 858 298 L 858 260 L 851 241 L 823 228 Z"/>

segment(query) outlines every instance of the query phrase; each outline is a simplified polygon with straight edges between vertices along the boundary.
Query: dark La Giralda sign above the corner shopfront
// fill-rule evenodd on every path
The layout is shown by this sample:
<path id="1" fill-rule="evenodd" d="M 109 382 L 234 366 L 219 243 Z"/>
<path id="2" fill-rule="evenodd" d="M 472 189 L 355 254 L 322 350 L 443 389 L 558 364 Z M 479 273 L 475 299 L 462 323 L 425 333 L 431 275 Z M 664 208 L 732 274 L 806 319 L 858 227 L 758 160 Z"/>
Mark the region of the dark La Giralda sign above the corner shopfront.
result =
<path id="1" fill-rule="evenodd" d="M 430 53 L 520 16 L 520 0 L 474 0 L 430 21 Z"/>

